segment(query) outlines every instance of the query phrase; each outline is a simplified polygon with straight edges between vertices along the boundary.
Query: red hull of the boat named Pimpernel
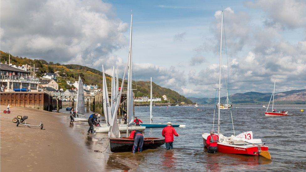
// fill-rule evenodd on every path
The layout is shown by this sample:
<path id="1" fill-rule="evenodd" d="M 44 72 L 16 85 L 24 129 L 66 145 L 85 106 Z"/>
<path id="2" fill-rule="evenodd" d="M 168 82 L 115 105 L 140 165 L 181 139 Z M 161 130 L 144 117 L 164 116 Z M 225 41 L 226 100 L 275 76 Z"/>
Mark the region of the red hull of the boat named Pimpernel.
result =
<path id="1" fill-rule="evenodd" d="M 206 146 L 206 138 L 203 138 L 204 147 Z M 242 154 L 258 156 L 260 151 L 267 151 L 268 147 L 264 145 L 248 144 L 248 145 L 232 145 L 226 143 L 217 143 L 218 152 L 224 154 Z"/>

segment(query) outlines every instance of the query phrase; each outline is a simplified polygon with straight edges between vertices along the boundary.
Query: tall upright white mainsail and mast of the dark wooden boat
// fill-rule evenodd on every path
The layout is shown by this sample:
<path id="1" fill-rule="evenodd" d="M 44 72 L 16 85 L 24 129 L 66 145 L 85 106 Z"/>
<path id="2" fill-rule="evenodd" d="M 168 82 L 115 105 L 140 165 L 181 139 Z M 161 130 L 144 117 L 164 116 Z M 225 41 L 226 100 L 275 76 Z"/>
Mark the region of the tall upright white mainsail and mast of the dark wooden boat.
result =
<path id="1" fill-rule="evenodd" d="M 131 14 L 131 30 L 130 30 L 130 43 L 129 43 L 129 60 L 128 60 L 128 85 L 127 85 L 127 116 L 128 124 L 133 123 L 134 119 L 134 100 L 132 88 L 132 21 L 133 14 Z"/>

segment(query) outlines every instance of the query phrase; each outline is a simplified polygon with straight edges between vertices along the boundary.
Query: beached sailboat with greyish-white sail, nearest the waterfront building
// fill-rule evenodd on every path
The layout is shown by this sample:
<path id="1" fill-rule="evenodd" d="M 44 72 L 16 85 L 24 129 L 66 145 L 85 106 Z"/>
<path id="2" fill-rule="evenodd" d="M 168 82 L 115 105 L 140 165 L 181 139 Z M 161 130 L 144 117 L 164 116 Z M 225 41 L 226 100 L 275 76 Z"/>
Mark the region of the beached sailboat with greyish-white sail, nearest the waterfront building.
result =
<path id="1" fill-rule="evenodd" d="M 84 88 L 83 88 L 83 81 L 81 76 L 79 76 L 79 86 L 77 88 L 77 108 L 76 108 L 76 116 L 83 116 L 83 117 L 75 117 L 74 121 L 77 122 L 85 122 L 88 121 L 88 118 L 85 117 L 85 98 L 84 98 Z"/>

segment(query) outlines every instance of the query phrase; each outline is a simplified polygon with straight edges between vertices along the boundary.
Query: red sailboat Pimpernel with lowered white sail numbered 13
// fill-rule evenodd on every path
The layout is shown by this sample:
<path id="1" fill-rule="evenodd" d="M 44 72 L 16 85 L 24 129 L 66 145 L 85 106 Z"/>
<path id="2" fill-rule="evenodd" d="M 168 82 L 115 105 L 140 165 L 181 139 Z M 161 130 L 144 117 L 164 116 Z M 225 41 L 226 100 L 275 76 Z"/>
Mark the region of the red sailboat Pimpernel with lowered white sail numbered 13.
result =
<path id="1" fill-rule="evenodd" d="M 222 26 L 223 26 L 223 11 L 221 19 L 221 38 L 220 38 L 220 57 L 219 57 L 219 104 L 220 104 L 220 91 L 221 91 L 221 60 L 222 60 Z M 232 111 L 230 110 L 231 117 Z M 232 117 L 234 135 L 231 137 L 225 137 L 220 133 L 220 107 L 218 107 L 218 136 L 217 143 L 218 152 L 225 154 L 244 154 L 244 155 L 261 155 L 267 159 L 271 159 L 268 147 L 261 142 L 261 139 L 253 139 L 253 133 L 251 131 L 241 133 L 235 136 L 234 122 Z M 203 144 L 206 146 L 206 140 L 210 133 L 203 133 Z"/>

